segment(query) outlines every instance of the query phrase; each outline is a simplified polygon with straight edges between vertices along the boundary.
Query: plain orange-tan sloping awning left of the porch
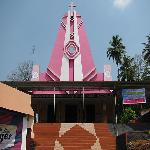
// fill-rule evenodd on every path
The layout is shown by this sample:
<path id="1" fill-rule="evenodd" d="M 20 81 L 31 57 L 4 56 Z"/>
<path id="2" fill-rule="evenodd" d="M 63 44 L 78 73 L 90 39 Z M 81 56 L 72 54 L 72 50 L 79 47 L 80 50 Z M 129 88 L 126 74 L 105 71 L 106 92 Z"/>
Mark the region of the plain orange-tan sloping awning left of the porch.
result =
<path id="1" fill-rule="evenodd" d="M 0 107 L 34 116 L 31 96 L 0 83 Z"/>

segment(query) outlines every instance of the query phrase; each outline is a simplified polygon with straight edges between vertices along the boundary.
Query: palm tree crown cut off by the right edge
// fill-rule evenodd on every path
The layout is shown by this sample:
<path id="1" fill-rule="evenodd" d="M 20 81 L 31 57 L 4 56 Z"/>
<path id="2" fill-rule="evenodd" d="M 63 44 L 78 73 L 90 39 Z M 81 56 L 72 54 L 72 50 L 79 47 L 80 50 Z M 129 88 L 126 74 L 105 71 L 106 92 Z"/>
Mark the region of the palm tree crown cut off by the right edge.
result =
<path id="1" fill-rule="evenodd" d="M 147 43 L 142 43 L 145 46 L 142 53 L 144 55 L 144 60 L 150 64 L 150 34 L 146 37 L 148 41 Z"/>

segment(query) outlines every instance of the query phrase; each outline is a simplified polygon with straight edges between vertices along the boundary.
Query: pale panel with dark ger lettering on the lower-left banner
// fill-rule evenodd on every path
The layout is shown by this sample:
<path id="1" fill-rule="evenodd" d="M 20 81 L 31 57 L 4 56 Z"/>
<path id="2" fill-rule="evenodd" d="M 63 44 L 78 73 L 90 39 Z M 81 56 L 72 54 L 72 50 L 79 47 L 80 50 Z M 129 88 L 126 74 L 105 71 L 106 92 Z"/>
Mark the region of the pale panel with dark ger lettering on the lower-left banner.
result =
<path id="1" fill-rule="evenodd" d="M 16 129 L 15 125 L 0 124 L 0 149 L 14 146 Z"/>

